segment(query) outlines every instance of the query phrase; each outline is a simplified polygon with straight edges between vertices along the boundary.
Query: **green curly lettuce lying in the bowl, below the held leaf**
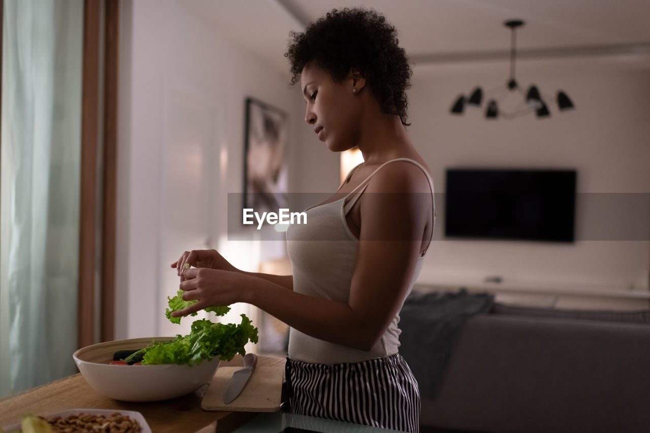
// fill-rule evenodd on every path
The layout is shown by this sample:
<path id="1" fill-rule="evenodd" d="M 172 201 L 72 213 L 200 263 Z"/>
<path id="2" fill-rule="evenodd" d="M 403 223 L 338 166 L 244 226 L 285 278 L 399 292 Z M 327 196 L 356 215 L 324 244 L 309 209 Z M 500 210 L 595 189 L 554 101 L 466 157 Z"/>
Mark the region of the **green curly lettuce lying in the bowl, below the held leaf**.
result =
<path id="1" fill-rule="evenodd" d="M 213 323 L 207 319 L 194 321 L 190 334 L 176 335 L 172 341 L 154 341 L 142 349 L 140 351 L 144 351 L 142 364 L 187 364 L 191 366 L 199 364 L 203 360 L 212 360 L 214 356 L 218 356 L 223 361 L 230 361 L 237 353 L 245 355 L 244 345 L 248 341 L 257 343 L 257 328 L 252 325 L 245 314 L 242 314 L 241 317 L 242 322 L 239 325 Z M 131 356 L 127 357 L 125 361 L 128 362 Z"/>

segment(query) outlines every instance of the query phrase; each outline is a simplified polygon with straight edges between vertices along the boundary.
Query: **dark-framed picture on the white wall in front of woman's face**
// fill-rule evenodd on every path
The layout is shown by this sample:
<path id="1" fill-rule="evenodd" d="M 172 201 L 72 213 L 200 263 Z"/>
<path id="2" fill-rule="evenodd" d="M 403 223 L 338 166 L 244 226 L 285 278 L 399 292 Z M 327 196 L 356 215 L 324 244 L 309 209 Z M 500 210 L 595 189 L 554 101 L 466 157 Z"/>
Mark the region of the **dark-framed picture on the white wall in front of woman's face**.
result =
<path id="1" fill-rule="evenodd" d="M 288 123 L 286 112 L 246 99 L 244 208 L 260 215 L 287 207 Z"/>

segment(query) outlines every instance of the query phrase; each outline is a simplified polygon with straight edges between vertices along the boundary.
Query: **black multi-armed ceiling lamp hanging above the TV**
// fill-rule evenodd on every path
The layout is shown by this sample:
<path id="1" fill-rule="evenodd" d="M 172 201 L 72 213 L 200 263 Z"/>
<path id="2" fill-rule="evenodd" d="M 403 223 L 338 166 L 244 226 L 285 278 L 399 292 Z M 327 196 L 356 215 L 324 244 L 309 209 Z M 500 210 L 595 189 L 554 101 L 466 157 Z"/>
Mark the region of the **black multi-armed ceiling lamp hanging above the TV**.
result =
<path id="1" fill-rule="evenodd" d="M 514 119 L 532 112 L 535 112 L 538 118 L 549 117 L 551 112 L 549 111 L 547 104 L 551 101 L 556 101 L 560 111 L 573 109 L 574 106 L 571 98 L 569 98 L 569 96 L 567 96 L 567 94 L 562 90 L 558 90 L 557 96 L 554 99 L 552 96 L 541 94 L 536 85 L 530 85 L 527 92 L 523 92 L 523 90 L 519 88 L 519 84 L 515 79 L 515 57 L 517 57 L 517 51 L 515 49 L 515 30 L 517 27 L 524 25 L 524 21 L 508 20 L 504 25 L 510 27 L 510 30 L 512 31 L 512 44 L 510 46 L 510 79 L 508 79 L 506 85 L 488 90 L 485 94 L 480 87 L 476 87 L 470 94 L 469 98 L 465 95 L 458 96 L 458 99 L 456 99 L 454 105 L 451 107 L 450 111 L 452 114 L 463 114 L 467 105 L 480 107 L 484 99 L 487 100 L 485 116 L 488 119 L 496 119 L 499 117 Z M 508 96 L 508 94 L 515 90 L 522 94 L 525 99 L 517 105 L 512 112 L 506 112 L 500 109 L 499 104 Z"/>

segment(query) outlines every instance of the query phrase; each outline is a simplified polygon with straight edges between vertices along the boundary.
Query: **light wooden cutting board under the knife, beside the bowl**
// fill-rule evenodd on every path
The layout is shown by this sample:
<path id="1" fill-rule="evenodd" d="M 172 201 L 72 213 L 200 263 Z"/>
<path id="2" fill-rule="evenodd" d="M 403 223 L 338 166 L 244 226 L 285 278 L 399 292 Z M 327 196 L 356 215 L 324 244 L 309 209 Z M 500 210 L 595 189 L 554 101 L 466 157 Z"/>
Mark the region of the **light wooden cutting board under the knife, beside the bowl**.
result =
<path id="1" fill-rule="evenodd" d="M 221 398 L 235 371 L 242 367 L 219 367 L 201 402 L 205 410 L 235 412 L 276 412 L 282 397 L 284 365 L 257 365 L 237 399 L 229 404 Z"/>

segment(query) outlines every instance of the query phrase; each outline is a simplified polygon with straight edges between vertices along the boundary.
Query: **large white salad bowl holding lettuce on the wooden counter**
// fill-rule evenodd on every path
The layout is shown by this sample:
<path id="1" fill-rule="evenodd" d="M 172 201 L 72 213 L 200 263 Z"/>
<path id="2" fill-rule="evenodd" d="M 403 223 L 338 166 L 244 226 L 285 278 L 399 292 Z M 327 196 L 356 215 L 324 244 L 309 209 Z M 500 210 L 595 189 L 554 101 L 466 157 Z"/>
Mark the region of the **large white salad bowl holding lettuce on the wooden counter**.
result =
<path id="1" fill-rule="evenodd" d="M 133 338 L 107 341 L 80 348 L 72 355 L 86 382 L 107 397 L 124 401 L 174 399 L 209 383 L 220 360 L 203 360 L 199 365 L 109 365 L 118 350 L 146 347 L 151 341 L 173 337 Z"/>

